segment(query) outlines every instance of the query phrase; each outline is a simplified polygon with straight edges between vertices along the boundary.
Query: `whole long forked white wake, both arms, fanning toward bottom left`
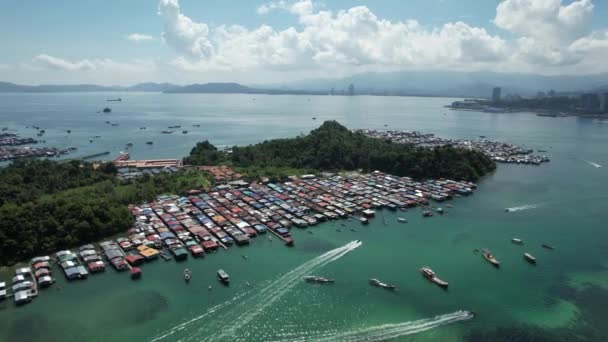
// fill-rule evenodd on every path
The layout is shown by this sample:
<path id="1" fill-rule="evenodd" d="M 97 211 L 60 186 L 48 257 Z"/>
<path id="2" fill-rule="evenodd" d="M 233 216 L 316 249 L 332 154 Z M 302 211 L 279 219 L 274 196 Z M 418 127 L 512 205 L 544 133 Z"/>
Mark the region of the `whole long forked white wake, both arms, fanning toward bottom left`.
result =
<path id="1" fill-rule="evenodd" d="M 249 294 L 249 292 L 243 293 L 227 302 L 214 306 L 204 314 L 171 328 L 168 332 L 154 338 L 150 342 L 163 340 L 166 337 L 171 336 L 178 331 L 184 330 L 188 326 L 207 318 L 209 315 L 214 313 L 217 313 L 218 315 L 209 320 L 205 320 L 205 324 L 202 326 L 197 326 L 197 331 L 189 333 L 188 336 L 180 339 L 180 341 L 246 341 L 246 336 L 239 336 L 238 334 L 239 331 L 242 330 L 241 328 L 249 324 L 265 309 L 283 297 L 294 286 L 302 282 L 302 278 L 305 275 L 310 274 L 314 270 L 323 267 L 330 262 L 340 259 L 359 246 L 361 246 L 361 241 L 352 241 L 342 247 L 326 252 L 325 254 L 322 254 L 294 268 L 276 280 L 271 281 L 264 288 L 258 290 L 253 296 L 248 297 L 240 301 L 238 304 L 232 306 L 231 310 L 226 311 L 222 309 L 227 308 L 230 304 L 233 304 L 237 300 L 241 299 L 245 294 Z M 226 322 L 230 322 L 230 326 L 227 329 L 223 329 L 217 334 L 208 334 L 209 326 L 213 325 L 217 328 L 218 326 L 225 326 Z"/>

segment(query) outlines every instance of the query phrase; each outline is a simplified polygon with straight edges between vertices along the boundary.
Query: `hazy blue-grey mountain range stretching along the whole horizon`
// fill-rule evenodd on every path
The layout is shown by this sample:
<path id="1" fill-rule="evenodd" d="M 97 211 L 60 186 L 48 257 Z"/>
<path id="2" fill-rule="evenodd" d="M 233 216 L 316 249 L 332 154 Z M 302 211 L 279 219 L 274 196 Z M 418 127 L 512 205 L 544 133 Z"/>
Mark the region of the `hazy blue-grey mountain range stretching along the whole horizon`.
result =
<path id="1" fill-rule="evenodd" d="M 355 94 L 395 96 L 489 97 L 494 87 L 502 94 L 535 95 L 551 89 L 561 94 L 605 92 L 608 74 L 544 76 L 534 74 L 456 71 L 397 71 L 362 73 L 335 79 L 307 79 L 274 84 L 205 83 L 180 86 L 171 83 L 139 83 L 133 86 L 19 85 L 0 82 L 1 92 L 100 92 L 138 91 L 164 93 L 344 95 L 353 84 Z"/>

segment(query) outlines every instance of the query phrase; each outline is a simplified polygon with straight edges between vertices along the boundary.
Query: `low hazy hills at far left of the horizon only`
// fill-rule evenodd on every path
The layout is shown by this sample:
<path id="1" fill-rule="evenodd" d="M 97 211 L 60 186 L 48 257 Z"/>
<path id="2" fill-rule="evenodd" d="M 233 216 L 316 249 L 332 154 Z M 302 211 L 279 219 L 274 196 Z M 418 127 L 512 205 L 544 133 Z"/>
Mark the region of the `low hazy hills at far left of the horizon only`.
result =
<path id="1" fill-rule="evenodd" d="M 74 93 L 74 92 L 101 92 L 101 91 L 147 91 L 163 92 L 179 87 L 170 83 L 139 83 L 130 87 L 100 86 L 94 84 L 70 85 L 21 85 L 9 82 L 0 82 L 0 93 Z"/>

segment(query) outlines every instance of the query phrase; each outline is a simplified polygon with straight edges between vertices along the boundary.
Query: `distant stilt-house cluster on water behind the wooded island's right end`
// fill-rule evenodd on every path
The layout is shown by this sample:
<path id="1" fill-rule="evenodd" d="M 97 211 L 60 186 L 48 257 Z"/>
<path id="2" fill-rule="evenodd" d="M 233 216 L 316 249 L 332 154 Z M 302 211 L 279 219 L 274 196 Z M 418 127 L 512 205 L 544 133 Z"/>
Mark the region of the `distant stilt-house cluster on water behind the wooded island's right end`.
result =
<path id="1" fill-rule="evenodd" d="M 437 147 L 454 146 L 476 150 L 484 153 L 492 160 L 500 163 L 533 164 L 540 165 L 548 162 L 546 156 L 533 155 L 533 150 L 524 149 L 515 145 L 487 140 L 480 137 L 478 140 L 445 139 L 434 134 L 424 134 L 416 131 L 377 131 L 374 129 L 359 130 L 372 138 L 388 139 L 400 144 L 415 146 Z"/>

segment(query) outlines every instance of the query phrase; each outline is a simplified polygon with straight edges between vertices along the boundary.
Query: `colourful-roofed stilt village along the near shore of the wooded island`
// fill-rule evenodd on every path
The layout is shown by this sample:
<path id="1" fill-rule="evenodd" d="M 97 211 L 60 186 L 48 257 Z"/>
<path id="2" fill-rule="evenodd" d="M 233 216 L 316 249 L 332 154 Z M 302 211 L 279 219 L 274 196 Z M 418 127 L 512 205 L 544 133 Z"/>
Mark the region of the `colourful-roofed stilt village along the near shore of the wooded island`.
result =
<path id="1" fill-rule="evenodd" d="M 228 167 L 208 170 L 216 177 L 238 175 Z M 152 260 L 201 258 L 218 248 L 248 245 L 261 235 L 293 246 L 298 234 L 294 228 L 325 221 L 345 219 L 365 225 L 378 210 L 408 211 L 414 207 L 420 207 L 424 217 L 441 215 L 445 211 L 438 203 L 468 196 L 476 187 L 471 182 L 418 182 L 373 172 L 303 175 L 284 183 L 230 182 L 208 192 L 193 189 L 187 196 L 162 195 L 154 202 L 129 207 L 134 224 L 125 236 L 36 257 L 30 265 L 16 269 L 8 293 L 5 282 L 0 283 L 0 296 L 12 296 L 17 305 L 30 302 L 39 289 L 54 283 L 53 267 L 59 267 L 68 280 L 87 279 L 105 271 L 106 265 L 140 279 L 142 265 Z M 383 220 L 389 224 L 384 216 Z M 406 222 L 399 218 L 391 223 Z M 184 272 L 184 280 L 189 279 L 190 273 Z"/>

